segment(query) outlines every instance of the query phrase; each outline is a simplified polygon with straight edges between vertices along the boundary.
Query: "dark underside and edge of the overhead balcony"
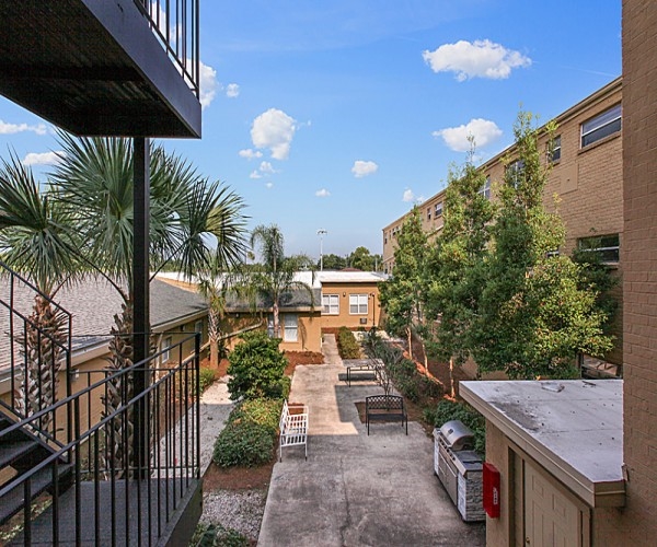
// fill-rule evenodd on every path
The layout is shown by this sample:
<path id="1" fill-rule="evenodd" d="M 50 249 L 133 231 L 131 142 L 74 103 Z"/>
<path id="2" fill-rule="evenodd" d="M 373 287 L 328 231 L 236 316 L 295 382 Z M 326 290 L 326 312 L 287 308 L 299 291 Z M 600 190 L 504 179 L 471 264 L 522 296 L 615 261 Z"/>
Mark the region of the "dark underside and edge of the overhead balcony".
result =
<path id="1" fill-rule="evenodd" d="M 0 2 L 0 94 L 74 135 L 200 137 L 200 104 L 134 0 Z"/>

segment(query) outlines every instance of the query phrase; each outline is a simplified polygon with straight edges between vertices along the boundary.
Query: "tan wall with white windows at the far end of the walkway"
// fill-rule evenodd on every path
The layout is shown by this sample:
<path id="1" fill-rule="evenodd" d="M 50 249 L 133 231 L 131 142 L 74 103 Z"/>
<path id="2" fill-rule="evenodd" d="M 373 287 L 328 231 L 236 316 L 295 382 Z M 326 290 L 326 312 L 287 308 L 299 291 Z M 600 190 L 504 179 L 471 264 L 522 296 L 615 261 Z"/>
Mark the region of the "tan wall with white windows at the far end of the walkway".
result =
<path id="1" fill-rule="evenodd" d="M 381 323 L 381 304 L 379 301 L 379 286 L 376 282 L 371 283 L 322 283 L 322 295 L 337 294 L 339 298 L 339 314 L 328 315 L 322 313 L 322 328 L 335 329 L 347 327 L 350 329 L 371 328 L 379 326 Z M 368 313 L 351 315 L 349 313 L 349 295 L 350 294 L 367 294 L 368 295 Z M 365 319 L 365 323 L 361 323 Z"/>

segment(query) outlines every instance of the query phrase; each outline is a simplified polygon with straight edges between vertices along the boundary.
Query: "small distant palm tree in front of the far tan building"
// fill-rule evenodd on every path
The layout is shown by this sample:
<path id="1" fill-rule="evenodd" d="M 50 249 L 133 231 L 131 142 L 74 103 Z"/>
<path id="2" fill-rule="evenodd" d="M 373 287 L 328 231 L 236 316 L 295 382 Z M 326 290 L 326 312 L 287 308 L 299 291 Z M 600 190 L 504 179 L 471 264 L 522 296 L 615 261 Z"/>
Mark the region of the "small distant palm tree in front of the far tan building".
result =
<path id="1" fill-rule="evenodd" d="M 314 306 L 312 287 L 295 279 L 301 269 L 310 269 L 314 278 L 313 261 L 306 255 L 286 257 L 283 232 L 276 224 L 256 226 L 251 233 L 251 246 L 260 246 L 263 263 L 255 266 L 249 280 L 257 294 L 272 302 L 274 336 L 280 338 L 278 312 L 285 293 L 303 290 L 310 296 L 311 307 Z"/>

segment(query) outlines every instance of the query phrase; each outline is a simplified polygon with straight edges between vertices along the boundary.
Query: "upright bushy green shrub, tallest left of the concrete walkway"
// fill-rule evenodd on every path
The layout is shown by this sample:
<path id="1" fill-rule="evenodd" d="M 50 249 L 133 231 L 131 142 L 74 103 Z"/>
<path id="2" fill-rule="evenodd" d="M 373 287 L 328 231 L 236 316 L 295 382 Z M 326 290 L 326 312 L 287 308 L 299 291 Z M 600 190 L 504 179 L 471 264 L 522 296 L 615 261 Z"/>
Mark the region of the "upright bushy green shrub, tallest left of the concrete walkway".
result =
<path id="1" fill-rule="evenodd" d="M 264 330 L 242 335 L 242 341 L 228 357 L 230 398 L 280 397 L 288 360 L 278 349 L 280 338 L 269 338 Z"/>

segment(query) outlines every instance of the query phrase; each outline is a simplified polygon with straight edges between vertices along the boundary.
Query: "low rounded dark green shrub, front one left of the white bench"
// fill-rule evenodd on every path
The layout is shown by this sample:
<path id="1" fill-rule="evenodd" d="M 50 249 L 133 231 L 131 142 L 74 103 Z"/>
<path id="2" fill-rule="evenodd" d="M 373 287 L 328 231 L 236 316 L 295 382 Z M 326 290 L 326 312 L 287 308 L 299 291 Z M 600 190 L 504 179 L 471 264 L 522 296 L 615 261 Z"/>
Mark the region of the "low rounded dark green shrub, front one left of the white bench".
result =
<path id="1" fill-rule="evenodd" d="M 217 437 L 212 459 L 219 467 L 253 467 L 274 457 L 276 430 L 250 420 L 229 421 Z"/>

